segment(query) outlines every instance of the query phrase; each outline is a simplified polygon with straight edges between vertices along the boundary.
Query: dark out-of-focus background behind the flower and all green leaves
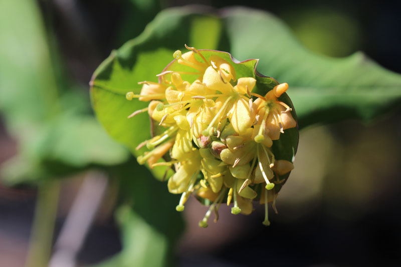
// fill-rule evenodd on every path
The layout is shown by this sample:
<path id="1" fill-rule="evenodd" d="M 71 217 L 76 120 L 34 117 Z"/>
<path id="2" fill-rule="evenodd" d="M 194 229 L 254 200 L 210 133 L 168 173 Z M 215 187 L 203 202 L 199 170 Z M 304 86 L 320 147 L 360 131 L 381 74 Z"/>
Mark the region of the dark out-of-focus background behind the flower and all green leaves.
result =
<path id="1" fill-rule="evenodd" d="M 62 71 L 82 85 L 88 101 L 90 77 L 111 50 L 140 34 L 160 8 L 184 4 L 246 5 L 271 12 L 316 53 L 342 57 L 359 50 L 379 65 L 401 73 L 399 2 L 38 3 L 49 42 L 60 55 L 57 60 L 65 63 Z M 204 207 L 192 200 L 188 205 L 193 206 L 193 214 L 185 214 L 188 228 L 176 251 L 178 265 L 400 264 L 400 115 L 398 109 L 369 124 L 347 121 L 303 130 L 296 162 L 299 168 L 283 189 L 280 213 L 272 215 L 270 227 L 261 224 L 263 211 L 258 209 L 247 217 L 222 215 L 219 226 L 197 229 L 195 218 L 203 216 Z M 0 127 L 0 144 L 0 161 L 16 153 L 16 143 L 4 127 Z M 55 236 L 79 184 L 79 177 L 64 182 L 60 202 L 65 204 L 59 208 Z M 0 265 L 24 262 L 34 204 L 34 189 L 0 187 L 0 254 L 10 258 L 5 261 L 7 257 L 3 257 L 3 263 L 0 259 Z M 112 212 L 100 213 L 79 253 L 82 264 L 99 262 L 121 249 Z M 217 234 L 224 230 L 226 233 Z"/>

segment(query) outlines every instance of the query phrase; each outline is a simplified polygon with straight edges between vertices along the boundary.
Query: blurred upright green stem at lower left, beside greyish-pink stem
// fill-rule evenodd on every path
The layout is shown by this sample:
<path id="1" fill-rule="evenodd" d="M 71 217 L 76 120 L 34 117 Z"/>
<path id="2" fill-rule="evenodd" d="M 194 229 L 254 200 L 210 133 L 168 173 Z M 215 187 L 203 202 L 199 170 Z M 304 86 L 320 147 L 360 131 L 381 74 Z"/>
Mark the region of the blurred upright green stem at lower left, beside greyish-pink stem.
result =
<path id="1" fill-rule="evenodd" d="M 39 184 L 26 267 L 43 267 L 49 263 L 59 191 L 58 180 Z"/>

